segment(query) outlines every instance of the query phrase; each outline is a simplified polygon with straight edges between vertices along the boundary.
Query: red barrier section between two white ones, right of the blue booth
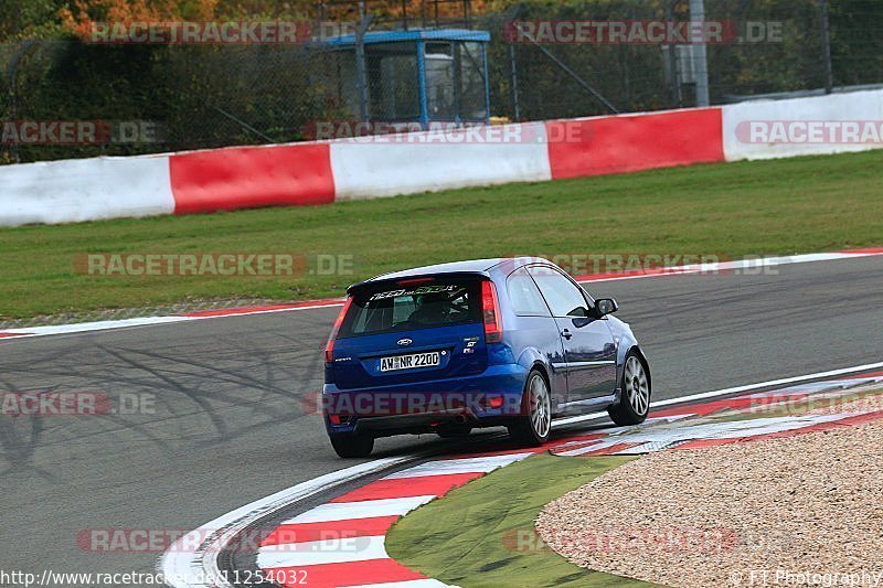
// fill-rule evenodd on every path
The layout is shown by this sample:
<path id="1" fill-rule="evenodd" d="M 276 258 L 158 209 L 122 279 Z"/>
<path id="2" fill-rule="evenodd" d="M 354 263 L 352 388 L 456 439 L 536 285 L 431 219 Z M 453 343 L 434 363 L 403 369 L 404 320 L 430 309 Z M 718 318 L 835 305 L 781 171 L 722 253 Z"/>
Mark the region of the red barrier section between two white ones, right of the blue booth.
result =
<path id="1" fill-rule="evenodd" d="M 546 122 L 552 179 L 724 161 L 721 108 Z"/>

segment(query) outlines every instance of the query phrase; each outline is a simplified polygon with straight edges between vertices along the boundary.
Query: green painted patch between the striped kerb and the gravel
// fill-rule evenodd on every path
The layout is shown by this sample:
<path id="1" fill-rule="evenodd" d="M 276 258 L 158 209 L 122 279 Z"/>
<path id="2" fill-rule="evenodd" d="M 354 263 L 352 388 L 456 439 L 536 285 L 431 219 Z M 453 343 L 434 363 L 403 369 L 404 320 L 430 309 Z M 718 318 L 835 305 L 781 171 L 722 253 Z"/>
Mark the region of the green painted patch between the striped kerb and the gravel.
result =
<path id="1" fill-rule="evenodd" d="M 465 588 L 650 586 L 568 563 L 533 526 L 545 504 L 632 459 L 528 458 L 408 513 L 387 535 L 386 550 L 411 569 Z"/>

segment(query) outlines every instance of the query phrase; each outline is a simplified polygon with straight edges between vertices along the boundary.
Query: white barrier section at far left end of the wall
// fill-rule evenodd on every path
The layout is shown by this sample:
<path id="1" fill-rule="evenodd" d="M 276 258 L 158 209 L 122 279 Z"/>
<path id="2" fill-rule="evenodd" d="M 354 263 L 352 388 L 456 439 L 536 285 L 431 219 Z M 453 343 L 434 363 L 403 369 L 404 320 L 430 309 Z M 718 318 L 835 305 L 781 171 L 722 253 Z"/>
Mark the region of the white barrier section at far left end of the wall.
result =
<path id="1" fill-rule="evenodd" d="M 0 165 L 0 225 L 172 214 L 168 157 Z"/>

